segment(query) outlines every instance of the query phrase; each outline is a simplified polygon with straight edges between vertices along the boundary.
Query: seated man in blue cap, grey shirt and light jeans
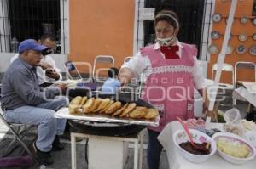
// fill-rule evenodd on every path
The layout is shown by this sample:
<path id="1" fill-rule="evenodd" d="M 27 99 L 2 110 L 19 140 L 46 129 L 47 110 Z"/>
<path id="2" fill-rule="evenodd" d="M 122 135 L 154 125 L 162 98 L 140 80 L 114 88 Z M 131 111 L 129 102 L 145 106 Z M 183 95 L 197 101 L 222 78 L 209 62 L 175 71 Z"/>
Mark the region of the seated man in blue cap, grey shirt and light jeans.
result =
<path id="1" fill-rule="evenodd" d="M 0 100 L 6 121 L 38 126 L 34 149 L 42 163 L 50 165 L 50 151 L 64 148 L 57 135 L 63 133 L 67 120 L 55 119 L 54 114 L 67 105 L 65 97 L 55 97 L 67 87 L 48 87 L 44 91 L 39 87 L 36 66 L 46 49 L 33 39 L 20 42 L 18 59 L 4 73 Z"/>

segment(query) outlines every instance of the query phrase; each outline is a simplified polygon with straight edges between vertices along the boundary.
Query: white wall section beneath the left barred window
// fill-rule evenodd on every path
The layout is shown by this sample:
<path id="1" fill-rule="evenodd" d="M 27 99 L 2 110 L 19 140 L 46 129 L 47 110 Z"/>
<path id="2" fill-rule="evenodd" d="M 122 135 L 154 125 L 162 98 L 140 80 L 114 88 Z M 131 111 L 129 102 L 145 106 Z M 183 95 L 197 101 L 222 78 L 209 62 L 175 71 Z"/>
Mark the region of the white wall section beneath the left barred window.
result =
<path id="1" fill-rule="evenodd" d="M 0 53 L 0 72 L 4 72 L 9 66 L 9 60 L 15 53 Z M 64 63 L 67 62 L 67 54 L 51 54 L 53 59 L 55 59 L 55 64 L 62 72 L 65 71 Z"/>

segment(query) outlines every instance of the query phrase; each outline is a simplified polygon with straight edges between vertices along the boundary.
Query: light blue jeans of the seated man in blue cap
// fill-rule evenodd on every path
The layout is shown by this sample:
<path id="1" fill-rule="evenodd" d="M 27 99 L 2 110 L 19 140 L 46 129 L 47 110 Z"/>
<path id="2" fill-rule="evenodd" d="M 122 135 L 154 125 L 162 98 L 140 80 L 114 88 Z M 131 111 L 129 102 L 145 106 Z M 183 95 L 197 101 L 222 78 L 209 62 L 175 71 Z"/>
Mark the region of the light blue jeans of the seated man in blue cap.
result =
<path id="1" fill-rule="evenodd" d="M 55 135 L 61 135 L 66 126 L 66 119 L 56 119 L 55 109 L 67 105 L 66 97 L 58 97 L 52 101 L 37 106 L 22 106 L 4 113 L 6 121 L 38 126 L 38 139 L 36 145 L 44 152 L 51 150 Z"/>

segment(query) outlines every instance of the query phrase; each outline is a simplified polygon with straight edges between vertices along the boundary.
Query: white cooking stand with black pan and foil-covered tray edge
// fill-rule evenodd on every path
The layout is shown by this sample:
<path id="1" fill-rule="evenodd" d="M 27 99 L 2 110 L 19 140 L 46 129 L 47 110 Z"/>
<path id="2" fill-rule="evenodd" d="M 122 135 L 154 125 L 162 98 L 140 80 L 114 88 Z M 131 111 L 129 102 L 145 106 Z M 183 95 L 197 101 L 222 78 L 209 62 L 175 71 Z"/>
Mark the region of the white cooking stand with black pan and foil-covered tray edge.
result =
<path id="1" fill-rule="evenodd" d="M 97 98 L 112 98 L 123 103 L 135 102 L 138 106 L 151 108 L 147 102 L 125 94 L 98 95 Z M 72 168 L 76 164 L 75 138 L 88 138 L 88 164 L 89 168 L 124 168 L 127 159 L 128 143 L 134 145 L 134 168 L 142 168 L 143 158 L 143 132 L 147 126 L 158 126 L 159 116 L 154 120 L 119 118 L 98 113 L 70 114 L 68 108 L 61 108 L 55 113 L 56 118 L 66 118 L 69 124 L 76 129 L 71 132 Z M 138 154 L 140 146 L 140 154 Z M 111 159 L 111 160 L 110 160 Z M 139 164 L 138 164 L 139 161 Z"/>

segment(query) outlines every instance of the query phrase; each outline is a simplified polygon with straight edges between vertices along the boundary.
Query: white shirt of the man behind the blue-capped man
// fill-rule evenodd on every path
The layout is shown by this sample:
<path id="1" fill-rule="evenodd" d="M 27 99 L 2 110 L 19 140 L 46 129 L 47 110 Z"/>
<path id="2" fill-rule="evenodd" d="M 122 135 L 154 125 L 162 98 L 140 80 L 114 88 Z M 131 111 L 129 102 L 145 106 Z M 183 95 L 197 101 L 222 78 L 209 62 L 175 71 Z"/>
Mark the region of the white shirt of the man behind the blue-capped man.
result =
<path id="1" fill-rule="evenodd" d="M 15 59 L 17 59 L 18 57 L 19 57 L 19 54 L 15 54 L 10 59 L 10 63 L 15 61 Z M 59 80 L 61 80 L 62 79 L 61 70 L 59 70 L 56 67 L 55 60 L 50 55 L 45 55 L 44 59 L 42 59 L 42 60 L 44 60 L 45 62 L 47 62 L 49 65 L 51 65 L 53 67 L 53 69 L 60 75 Z M 55 81 L 55 79 L 45 76 L 45 70 L 43 70 L 40 66 L 37 66 L 37 75 L 38 75 L 39 84 L 43 84 L 44 82 L 54 82 Z"/>

